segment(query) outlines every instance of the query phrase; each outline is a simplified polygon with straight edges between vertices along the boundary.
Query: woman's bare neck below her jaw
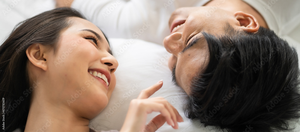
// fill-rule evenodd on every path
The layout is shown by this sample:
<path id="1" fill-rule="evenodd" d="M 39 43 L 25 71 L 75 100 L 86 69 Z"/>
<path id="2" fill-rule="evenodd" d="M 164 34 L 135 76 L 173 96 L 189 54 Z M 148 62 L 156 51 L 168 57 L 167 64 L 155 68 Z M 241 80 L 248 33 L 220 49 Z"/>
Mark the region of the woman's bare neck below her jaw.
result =
<path id="1" fill-rule="evenodd" d="M 48 101 L 45 96 L 32 99 L 25 132 L 89 131 L 88 119 L 76 115 L 70 106 Z"/>

